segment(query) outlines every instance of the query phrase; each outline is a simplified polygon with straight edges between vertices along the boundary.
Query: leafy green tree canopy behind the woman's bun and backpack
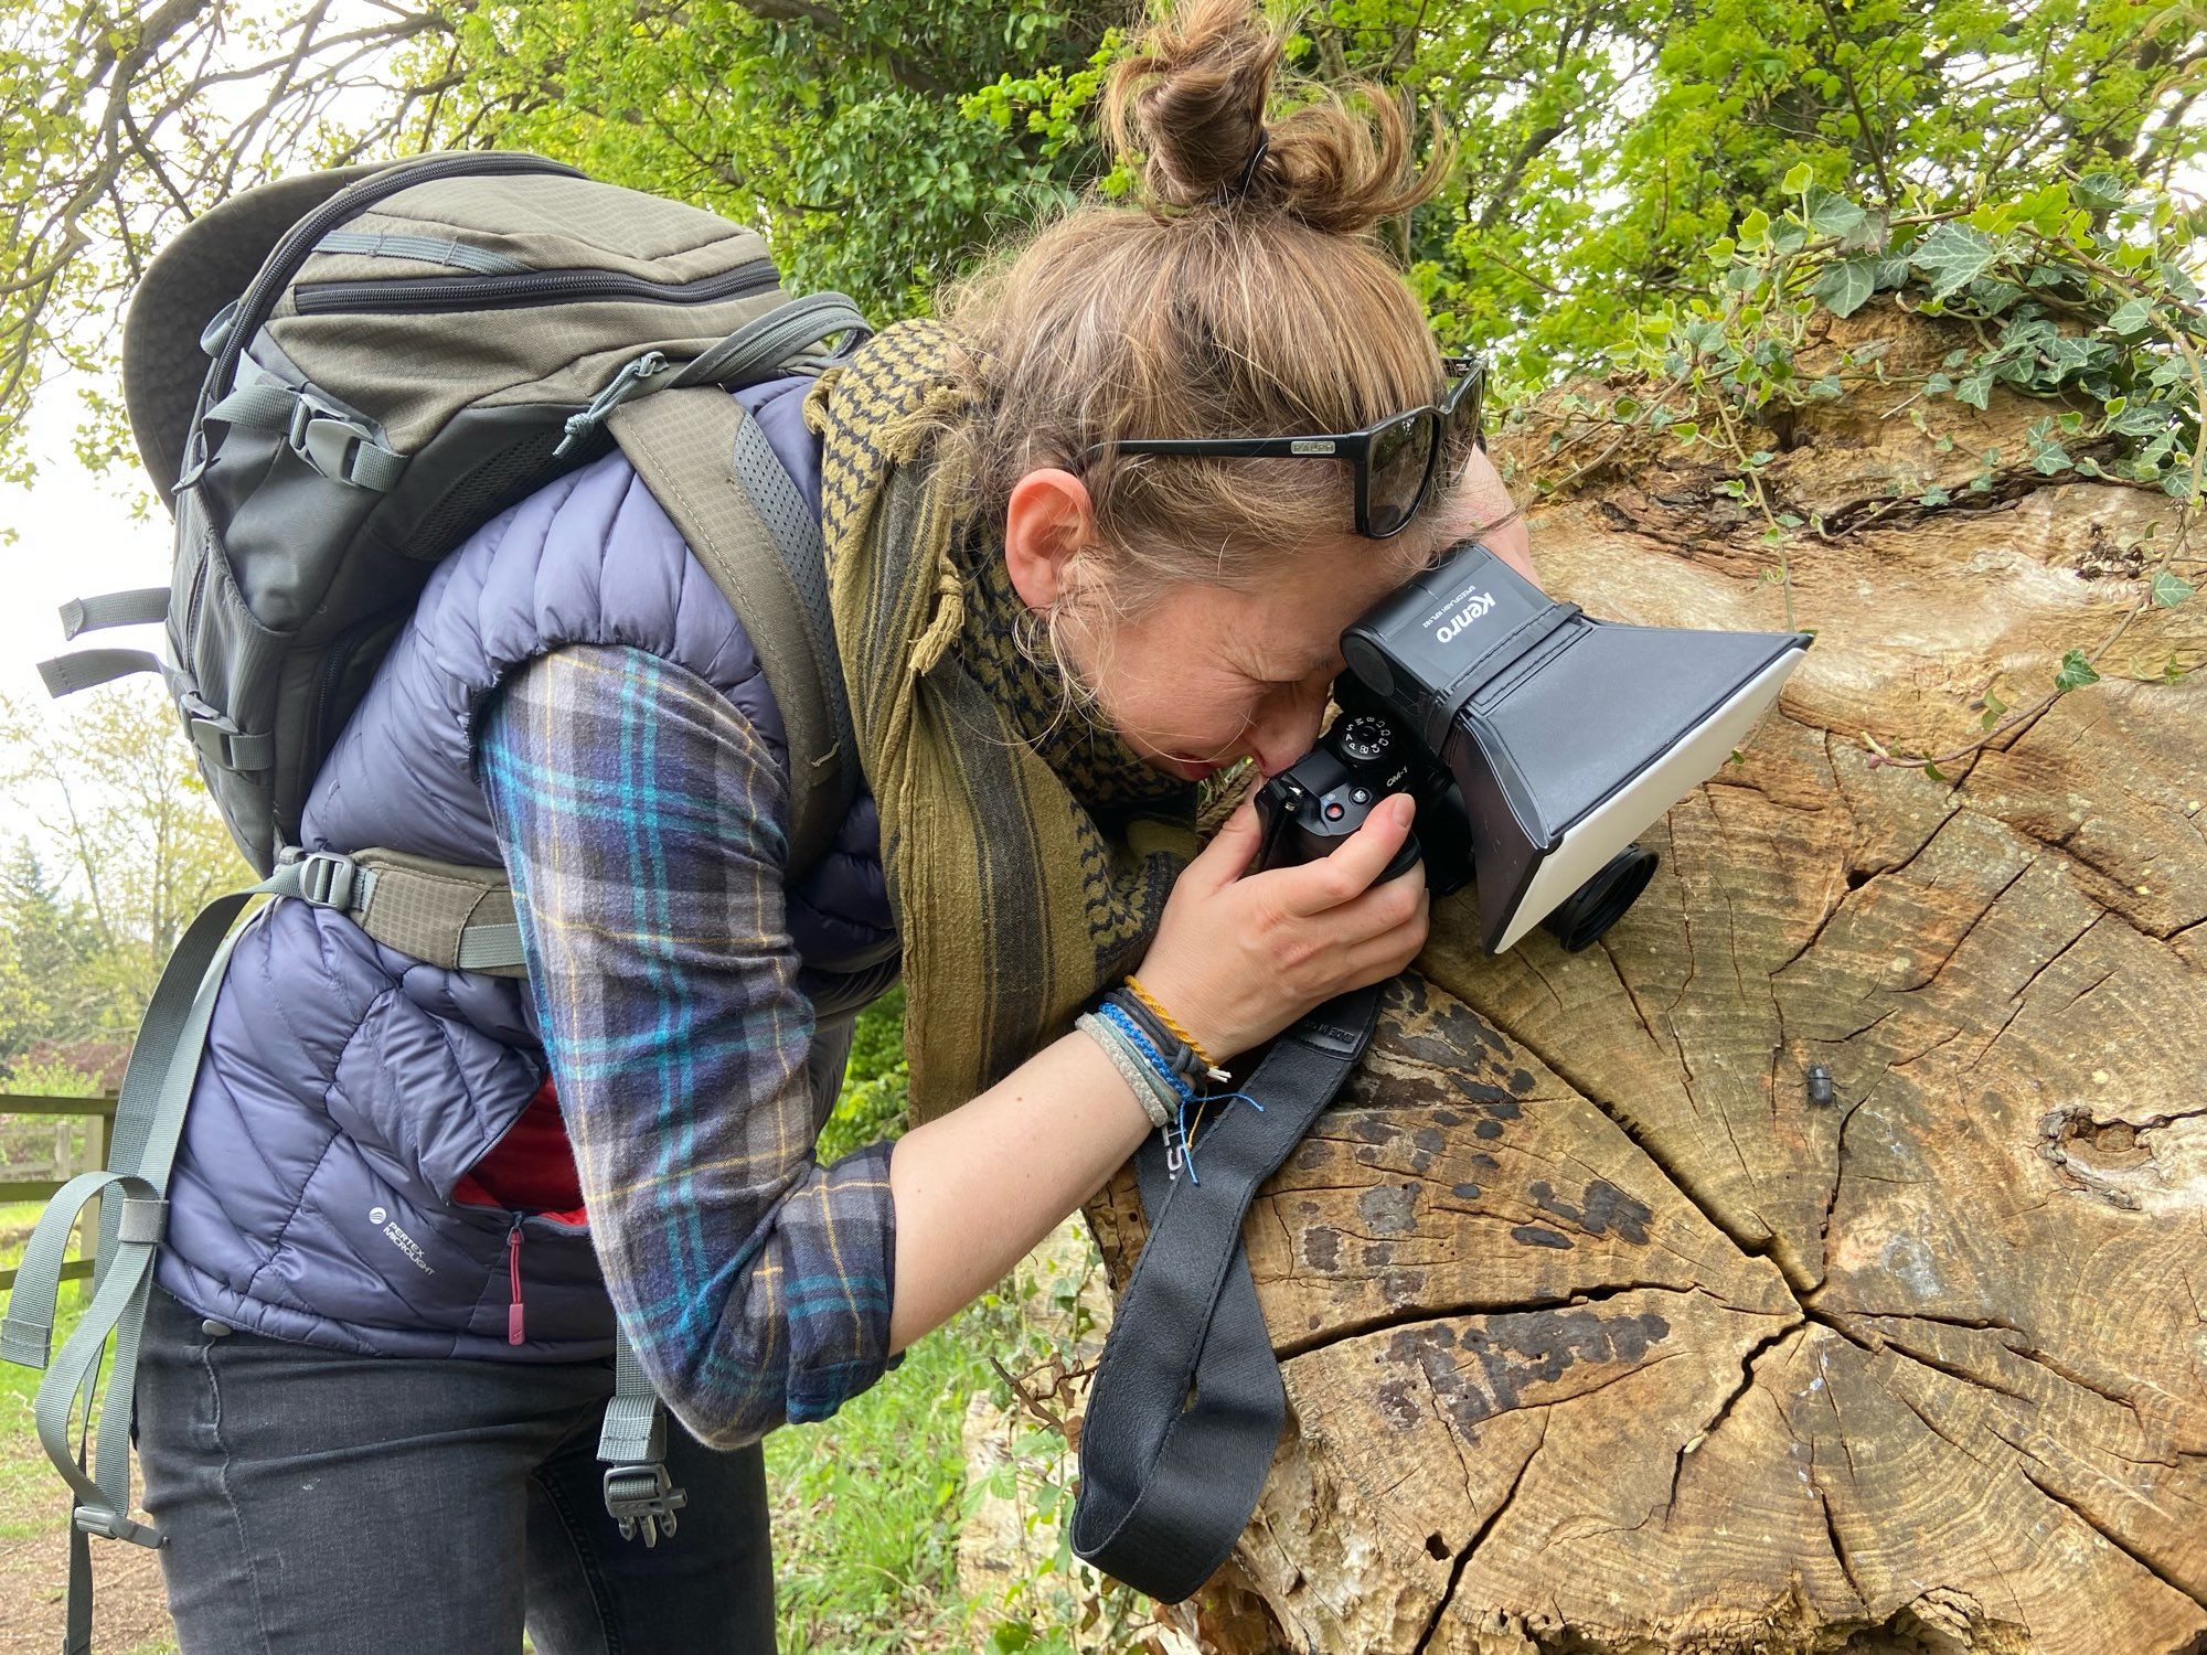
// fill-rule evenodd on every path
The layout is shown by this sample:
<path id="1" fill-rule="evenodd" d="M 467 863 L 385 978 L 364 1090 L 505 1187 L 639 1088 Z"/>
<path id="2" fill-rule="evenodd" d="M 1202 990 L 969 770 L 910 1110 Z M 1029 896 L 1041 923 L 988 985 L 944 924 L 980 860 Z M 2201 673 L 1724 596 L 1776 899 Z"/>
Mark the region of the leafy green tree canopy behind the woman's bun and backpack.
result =
<path id="1" fill-rule="evenodd" d="M 1132 22 L 1077 0 L 329 11 L 0 0 L 0 199 L 20 210 L 0 254 L 0 452 L 51 353 L 106 360 L 135 260 L 183 212 L 355 154 L 534 146 L 761 223 L 799 285 L 925 309 L 1095 179 L 1095 102 Z M 1796 207 L 1810 234 L 1858 243 L 1819 271 L 1847 311 L 1896 285 L 1872 243 L 1902 214 L 2046 188 L 2099 214 L 2167 183 L 2207 150 L 2185 119 L 2203 40 L 2198 9 L 2163 0 L 1326 0 L 1291 57 L 1397 88 L 1421 148 L 1452 146 L 1448 188 L 1390 241 L 1507 395 L 1702 291 L 1713 245 L 1752 247 Z M 2198 234 L 2200 210 L 2183 218 Z M 1997 241 L 1933 229 L 1911 271 L 1960 296 L 1995 274 Z M 113 439 L 113 406 L 102 419 Z"/>

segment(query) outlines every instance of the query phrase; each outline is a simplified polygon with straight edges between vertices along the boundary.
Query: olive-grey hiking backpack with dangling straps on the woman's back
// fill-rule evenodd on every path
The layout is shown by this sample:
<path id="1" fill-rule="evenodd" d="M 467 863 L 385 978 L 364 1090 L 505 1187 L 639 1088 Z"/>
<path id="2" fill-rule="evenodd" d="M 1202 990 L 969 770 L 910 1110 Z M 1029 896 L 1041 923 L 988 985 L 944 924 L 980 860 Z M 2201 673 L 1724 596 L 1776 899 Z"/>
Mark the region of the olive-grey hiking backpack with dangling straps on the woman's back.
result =
<path id="1" fill-rule="evenodd" d="M 166 620 L 168 660 L 88 649 L 40 666 L 66 695 L 166 680 L 260 883 L 210 903 L 148 1002 L 104 1172 L 73 1178 L 24 1249 L 0 1357 L 44 1368 L 40 1441 L 75 1492 L 68 1651 L 90 1646 L 88 1534 L 130 1518 L 128 1426 L 166 1183 L 232 922 L 254 896 L 344 911 L 450 969 L 521 975 L 503 869 L 302 852 L 300 814 L 430 572 L 472 530 L 616 444 L 750 633 L 781 706 L 790 876 L 825 854 L 861 775 L 819 523 L 728 388 L 823 366 L 867 322 L 790 298 L 742 225 L 521 152 L 426 154 L 280 179 L 196 218 L 148 269 L 124 333 L 139 452 L 177 521 L 168 587 L 82 598 L 71 638 Z M 883 986 L 881 960 L 861 962 Z M 894 975 L 894 958 L 887 960 Z M 106 1196 L 106 1198 L 102 1198 Z M 99 1200 L 90 1306 L 51 1353 L 62 1256 Z M 71 1452 L 117 1333 L 97 1476 Z M 673 1534 L 664 1419 L 627 1339 L 598 1456 L 622 1536 Z"/>

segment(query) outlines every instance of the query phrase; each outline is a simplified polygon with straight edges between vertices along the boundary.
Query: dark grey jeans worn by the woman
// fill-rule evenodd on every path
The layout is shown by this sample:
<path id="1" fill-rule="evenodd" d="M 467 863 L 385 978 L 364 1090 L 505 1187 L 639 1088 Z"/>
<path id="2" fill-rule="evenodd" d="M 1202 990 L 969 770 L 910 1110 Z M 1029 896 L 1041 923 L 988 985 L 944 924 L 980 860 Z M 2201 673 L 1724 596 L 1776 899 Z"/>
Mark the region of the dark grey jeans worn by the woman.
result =
<path id="1" fill-rule="evenodd" d="M 146 1512 L 185 1655 L 772 1655 L 759 1450 L 669 1419 L 658 1547 L 605 1514 L 614 1364 L 351 1357 L 214 1331 L 152 1289 Z"/>

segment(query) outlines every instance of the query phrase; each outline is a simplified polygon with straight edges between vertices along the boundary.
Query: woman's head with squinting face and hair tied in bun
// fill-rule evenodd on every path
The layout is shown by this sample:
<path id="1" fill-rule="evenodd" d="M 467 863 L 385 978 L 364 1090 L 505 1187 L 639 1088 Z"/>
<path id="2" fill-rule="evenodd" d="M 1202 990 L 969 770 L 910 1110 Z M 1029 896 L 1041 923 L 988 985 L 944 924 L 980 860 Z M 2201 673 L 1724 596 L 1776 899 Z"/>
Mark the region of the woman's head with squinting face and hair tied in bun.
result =
<path id="1" fill-rule="evenodd" d="M 980 362 L 964 441 L 1013 585 L 1104 717 L 1183 775 L 1293 759 L 1342 627 L 1454 516 L 1452 457 L 1419 521 L 1373 541 L 1344 463 L 1108 448 L 1360 430 L 1441 395 L 1417 296 L 1373 238 L 1432 188 L 1401 115 L 1309 88 L 1269 115 L 1278 71 L 1247 0 L 1183 4 L 1104 102 L 1150 201 L 1073 210 L 945 305 Z"/>

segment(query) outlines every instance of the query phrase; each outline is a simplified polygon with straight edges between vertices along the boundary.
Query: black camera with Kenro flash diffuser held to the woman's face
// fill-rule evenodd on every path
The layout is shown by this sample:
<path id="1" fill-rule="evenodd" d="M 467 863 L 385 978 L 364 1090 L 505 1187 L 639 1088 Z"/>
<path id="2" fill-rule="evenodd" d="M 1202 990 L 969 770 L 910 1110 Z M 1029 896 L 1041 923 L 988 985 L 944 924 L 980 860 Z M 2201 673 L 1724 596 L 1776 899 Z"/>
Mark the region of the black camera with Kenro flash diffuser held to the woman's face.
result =
<path id="1" fill-rule="evenodd" d="M 1459 541 L 1342 636 L 1340 715 L 1258 790 L 1256 865 L 1326 856 L 1408 792 L 1382 880 L 1424 861 L 1435 896 L 1476 885 L 1488 953 L 1540 922 L 1582 949 L 1655 874 L 1633 836 L 1724 766 L 1812 642 L 1596 620 Z"/>

